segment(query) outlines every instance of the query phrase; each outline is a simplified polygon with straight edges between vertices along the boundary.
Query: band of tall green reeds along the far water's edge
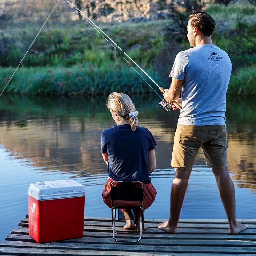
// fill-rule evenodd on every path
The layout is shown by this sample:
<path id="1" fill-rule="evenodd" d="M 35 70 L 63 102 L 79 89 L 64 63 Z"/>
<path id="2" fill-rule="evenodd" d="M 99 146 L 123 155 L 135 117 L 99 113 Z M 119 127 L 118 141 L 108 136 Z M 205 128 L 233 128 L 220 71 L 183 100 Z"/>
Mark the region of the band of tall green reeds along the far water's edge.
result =
<path id="1" fill-rule="evenodd" d="M 0 69 L 0 77 L 10 77 L 13 69 Z M 164 88 L 161 76 L 149 70 L 149 75 Z M 158 91 L 155 85 L 148 81 Z M 6 93 L 28 95 L 99 95 L 110 92 L 144 93 L 152 89 L 125 65 L 95 68 L 92 65 L 70 68 L 22 68 L 17 71 Z M 232 73 L 228 94 L 255 95 L 256 66 L 237 69 Z M 256 96 L 256 95 L 255 95 Z"/>

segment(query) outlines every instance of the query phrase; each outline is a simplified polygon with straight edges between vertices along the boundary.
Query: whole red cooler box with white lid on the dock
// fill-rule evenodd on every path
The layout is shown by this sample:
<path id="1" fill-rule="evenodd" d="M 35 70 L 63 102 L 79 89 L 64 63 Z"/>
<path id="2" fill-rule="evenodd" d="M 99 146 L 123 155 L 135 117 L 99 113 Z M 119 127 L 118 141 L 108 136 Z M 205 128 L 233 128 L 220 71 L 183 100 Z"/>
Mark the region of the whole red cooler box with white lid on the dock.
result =
<path id="1" fill-rule="evenodd" d="M 36 242 L 83 236 L 83 185 L 74 180 L 36 182 L 30 184 L 28 195 L 28 232 Z"/>

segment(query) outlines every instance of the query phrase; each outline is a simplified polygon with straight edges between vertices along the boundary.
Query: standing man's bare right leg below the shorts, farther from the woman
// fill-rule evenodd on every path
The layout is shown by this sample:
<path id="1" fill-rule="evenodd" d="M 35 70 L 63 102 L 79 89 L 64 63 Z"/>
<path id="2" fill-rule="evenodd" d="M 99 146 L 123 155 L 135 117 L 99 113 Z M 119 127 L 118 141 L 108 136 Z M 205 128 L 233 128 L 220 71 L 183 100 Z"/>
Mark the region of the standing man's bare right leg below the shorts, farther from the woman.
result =
<path id="1" fill-rule="evenodd" d="M 229 233 L 238 234 L 244 231 L 246 226 L 236 220 L 235 190 L 228 168 L 212 168 L 212 172 L 216 178 L 220 198 L 228 217 Z"/>

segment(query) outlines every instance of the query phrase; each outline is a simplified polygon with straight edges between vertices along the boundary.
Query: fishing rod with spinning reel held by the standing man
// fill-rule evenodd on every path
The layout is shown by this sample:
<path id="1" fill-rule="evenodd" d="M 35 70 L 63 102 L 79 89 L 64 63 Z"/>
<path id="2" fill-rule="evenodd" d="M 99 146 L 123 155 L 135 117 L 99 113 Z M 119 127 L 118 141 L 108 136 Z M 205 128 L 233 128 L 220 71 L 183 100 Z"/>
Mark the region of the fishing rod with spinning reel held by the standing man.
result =
<path id="1" fill-rule="evenodd" d="M 59 1 L 59 0 L 58 0 Z M 88 21 L 92 27 L 94 27 L 101 36 L 104 37 L 104 39 L 124 58 L 124 60 L 127 61 L 127 63 L 137 72 L 137 74 L 148 84 L 148 82 L 139 74 L 139 72 L 131 65 L 131 63 L 125 59 L 124 55 L 131 60 L 158 88 L 159 90 L 164 93 L 164 89 L 158 85 L 156 83 L 156 81 L 154 81 L 126 52 L 124 52 L 124 50 L 121 49 L 120 46 L 118 46 L 102 29 L 100 29 L 92 20 L 89 19 L 89 17 L 87 17 L 84 12 L 82 12 L 81 10 L 79 10 L 74 4 L 72 4 L 69 0 L 65 0 L 68 4 L 70 4 L 75 10 L 76 12 L 78 12 L 82 18 L 84 18 L 86 21 Z M 123 55 L 124 54 L 124 55 Z M 162 99 L 162 97 L 153 89 L 153 87 L 148 84 L 148 86 Z M 172 104 L 175 105 L 176 108 L 181 110 L 180 105 L 176 102 L 176 101 L 172 101 Z M 172 108 L 172 106 L 170 105 L 170 103 L 168 103 L 166 100 L 162 99 L 159 102 L 159 107 L 163 107 L 165 110 L 170 111 L 170 109 Z"/>

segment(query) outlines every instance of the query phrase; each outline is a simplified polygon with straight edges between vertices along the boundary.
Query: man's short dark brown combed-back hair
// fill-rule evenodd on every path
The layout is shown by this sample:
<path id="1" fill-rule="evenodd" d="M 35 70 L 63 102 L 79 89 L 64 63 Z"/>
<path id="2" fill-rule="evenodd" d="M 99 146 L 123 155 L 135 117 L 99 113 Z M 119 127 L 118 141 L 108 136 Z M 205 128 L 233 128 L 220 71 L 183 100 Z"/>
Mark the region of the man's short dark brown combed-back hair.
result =
<path id="1" fill-rule="evenodd" d="M 206 12 L 194 12 L 189 16 L 191 27 L 198 28 L 205 36 L 211 36 L 215 28 L 215 21 Z"/>

